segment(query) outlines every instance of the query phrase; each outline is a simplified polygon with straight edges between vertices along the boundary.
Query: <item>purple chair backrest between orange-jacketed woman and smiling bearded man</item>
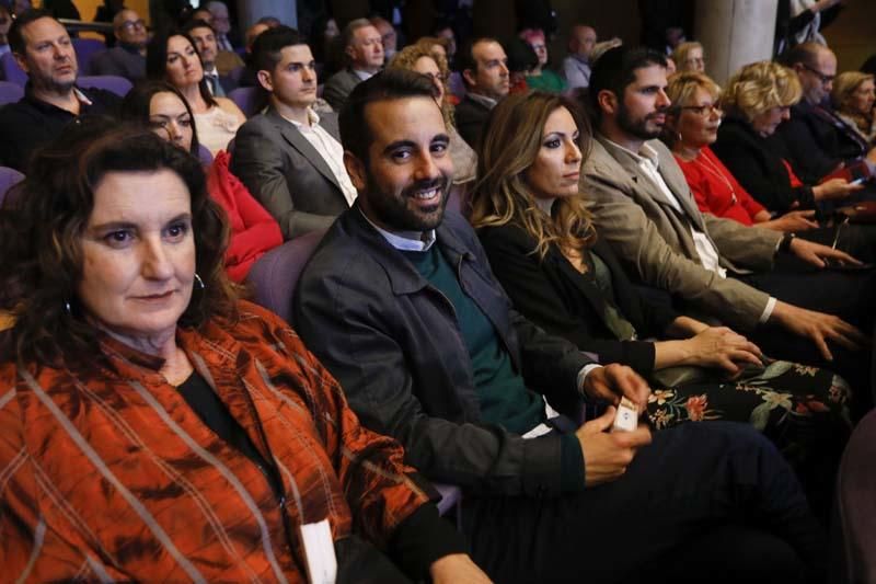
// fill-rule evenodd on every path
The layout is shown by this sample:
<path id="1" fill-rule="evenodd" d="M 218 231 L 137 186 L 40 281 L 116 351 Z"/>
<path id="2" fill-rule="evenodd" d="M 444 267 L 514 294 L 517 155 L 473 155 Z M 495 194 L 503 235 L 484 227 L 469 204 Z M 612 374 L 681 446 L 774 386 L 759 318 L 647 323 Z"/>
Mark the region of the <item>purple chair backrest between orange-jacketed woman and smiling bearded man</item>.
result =
<path id="1" fill-rule="evenodd" d="M 291 324 L 298 278 L 324 234 L 323 230 L 304 233 L 260 257 L 246 276 L 254 300 Z"/>

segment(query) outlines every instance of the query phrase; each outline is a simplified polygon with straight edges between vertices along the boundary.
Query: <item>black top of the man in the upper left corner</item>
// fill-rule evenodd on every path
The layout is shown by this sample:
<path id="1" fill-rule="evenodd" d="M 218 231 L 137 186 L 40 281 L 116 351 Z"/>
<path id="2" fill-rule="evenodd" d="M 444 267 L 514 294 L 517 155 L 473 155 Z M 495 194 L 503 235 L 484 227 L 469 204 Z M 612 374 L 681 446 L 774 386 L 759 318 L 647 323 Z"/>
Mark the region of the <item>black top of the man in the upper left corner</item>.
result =
<path id="1" fill-rule="evenodd" d="M 102 89 L 80 89 L 91 105 L 82 103 L 80 115 L 104 114 L 116 116 L 122 98 Z M 16 103 L 0 107 L 0 165 L 27 172 L 27 162 L 33 151 L 50 142 L 67 124 L 77 116 L 67 110 L 33 96 L 31 84 L 24 98 Z"/>

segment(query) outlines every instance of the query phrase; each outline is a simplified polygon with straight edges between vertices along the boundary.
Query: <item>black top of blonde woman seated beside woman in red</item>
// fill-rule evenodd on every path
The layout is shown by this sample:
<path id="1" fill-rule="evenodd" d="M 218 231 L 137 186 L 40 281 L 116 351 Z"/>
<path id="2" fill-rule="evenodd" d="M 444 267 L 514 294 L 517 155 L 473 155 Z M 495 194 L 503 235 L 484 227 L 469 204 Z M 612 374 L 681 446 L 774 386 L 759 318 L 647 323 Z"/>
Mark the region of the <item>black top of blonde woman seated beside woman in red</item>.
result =
<path id="1" fill-rule="evenodd" d="M 793 187 L 787 167 L 782 162 L 774 140 L 759 136 L 751 124 L 728 115 L 718 128 L 718 139 L 712 151 L 727 170 L 761 205 L 775 213 L 785 213 L 799 204 L 799 208 L 815 207 L 809 186 Z M 777 151 L 779 150 L 779 151 Z"/>

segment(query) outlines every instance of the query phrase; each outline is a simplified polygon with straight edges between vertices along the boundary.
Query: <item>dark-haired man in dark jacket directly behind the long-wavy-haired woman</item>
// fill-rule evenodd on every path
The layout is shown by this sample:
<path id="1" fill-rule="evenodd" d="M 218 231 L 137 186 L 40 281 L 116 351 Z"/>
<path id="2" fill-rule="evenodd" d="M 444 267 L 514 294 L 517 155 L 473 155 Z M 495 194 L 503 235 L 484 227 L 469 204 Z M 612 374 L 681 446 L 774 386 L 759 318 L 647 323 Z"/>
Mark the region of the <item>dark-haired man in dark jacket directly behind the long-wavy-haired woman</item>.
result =
<path id="1" fill-rule="evenodd" d="M 474 148 L 489 111 L 508 95 L 508 57 L 495 38 L 476 38 L 457 55 L 466 93 L 457 105 L 457 129 Z"/>

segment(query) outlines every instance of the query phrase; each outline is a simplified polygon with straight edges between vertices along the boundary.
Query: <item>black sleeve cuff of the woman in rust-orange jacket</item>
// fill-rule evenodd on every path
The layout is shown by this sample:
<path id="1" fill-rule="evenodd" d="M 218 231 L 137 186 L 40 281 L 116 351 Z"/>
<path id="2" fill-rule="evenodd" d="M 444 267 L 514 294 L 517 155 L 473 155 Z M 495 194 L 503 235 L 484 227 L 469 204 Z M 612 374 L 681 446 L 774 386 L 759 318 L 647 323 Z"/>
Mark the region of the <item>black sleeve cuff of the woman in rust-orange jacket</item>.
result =
<path id="1" fill-rule="evenodd" d="M 429 566 L 445 556 L 468 553 L 465 539 L 433 503 L 420 505 L 395 528 L 388 554 L 408 576 L 426 581 Z"/>

